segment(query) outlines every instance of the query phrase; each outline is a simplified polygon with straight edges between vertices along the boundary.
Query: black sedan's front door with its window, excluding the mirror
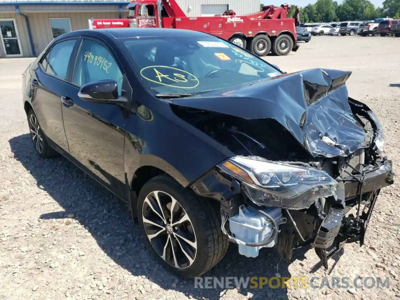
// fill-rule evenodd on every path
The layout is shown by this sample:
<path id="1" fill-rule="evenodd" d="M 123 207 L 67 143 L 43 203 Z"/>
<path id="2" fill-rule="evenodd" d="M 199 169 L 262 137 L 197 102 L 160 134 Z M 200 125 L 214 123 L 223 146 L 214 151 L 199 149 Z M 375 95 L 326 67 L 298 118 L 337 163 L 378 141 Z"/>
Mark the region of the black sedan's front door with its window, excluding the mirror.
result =
<path id="1" fill-rule="evenodd" d="M 101 40 L 84 37 L 76 54 L 71 88 L 63 94 L 62 115 L 70 154 L 110 190 L 125 198 L 124 138 L 130 110 L 78 97 L 87 83 L 112 79 L 119 96 L 132 88 L 114 52 Z"/>

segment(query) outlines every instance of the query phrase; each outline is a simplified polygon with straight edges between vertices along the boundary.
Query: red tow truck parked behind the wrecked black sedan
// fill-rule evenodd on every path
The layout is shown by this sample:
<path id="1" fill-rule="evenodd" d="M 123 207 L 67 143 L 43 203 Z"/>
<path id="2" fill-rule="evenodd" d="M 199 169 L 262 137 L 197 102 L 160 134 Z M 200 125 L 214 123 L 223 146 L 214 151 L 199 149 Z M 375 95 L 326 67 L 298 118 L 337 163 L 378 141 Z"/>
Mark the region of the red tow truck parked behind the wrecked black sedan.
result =
<path id="1" fill-rule="evenodd" d="M 90 19 L 89 28 L 162 27 L 208 32 L 228 40 L 257 56 L 271 50 L 286 55 L 299 48 L 295 19 L 288 17 L 290 5 L 264 6 L 262 11 L 236 16 L 233 10 L 222 15 L 188 17 L 175 0 L 132 0 L 126 19 Z"/>

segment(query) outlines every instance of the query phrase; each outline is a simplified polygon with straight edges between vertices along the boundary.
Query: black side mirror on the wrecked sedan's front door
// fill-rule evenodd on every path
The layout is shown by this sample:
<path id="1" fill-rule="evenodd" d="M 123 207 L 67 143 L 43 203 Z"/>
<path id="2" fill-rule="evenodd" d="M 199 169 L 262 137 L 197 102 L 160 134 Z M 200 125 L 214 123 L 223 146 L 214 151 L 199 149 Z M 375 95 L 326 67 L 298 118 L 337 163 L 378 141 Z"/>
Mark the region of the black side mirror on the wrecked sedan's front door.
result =
<path id="1" fill-rule="evenodd" d="M 118 85 L 115 80 L 90 82 L 82 86 L 78 97 L 88 102 L 112 103 L 118 100 Z"/>

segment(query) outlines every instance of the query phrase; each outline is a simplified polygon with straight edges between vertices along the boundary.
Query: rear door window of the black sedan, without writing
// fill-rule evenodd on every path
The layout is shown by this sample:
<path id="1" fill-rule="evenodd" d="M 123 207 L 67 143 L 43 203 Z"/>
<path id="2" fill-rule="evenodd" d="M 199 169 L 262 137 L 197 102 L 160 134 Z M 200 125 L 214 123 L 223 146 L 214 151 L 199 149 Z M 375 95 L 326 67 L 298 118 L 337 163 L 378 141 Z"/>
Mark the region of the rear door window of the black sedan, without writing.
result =
<path id="1" fill-rule="evenodd" d="M 48 57 L 46 73 L 66 80 L 68 64 L 72 51 L 74 50 L 76 39 L 66 40 L 54 45 Z M 46 64 L 47 56 L 42 61 Z M 44 65 L 43 65 L 44 67 Z"/>

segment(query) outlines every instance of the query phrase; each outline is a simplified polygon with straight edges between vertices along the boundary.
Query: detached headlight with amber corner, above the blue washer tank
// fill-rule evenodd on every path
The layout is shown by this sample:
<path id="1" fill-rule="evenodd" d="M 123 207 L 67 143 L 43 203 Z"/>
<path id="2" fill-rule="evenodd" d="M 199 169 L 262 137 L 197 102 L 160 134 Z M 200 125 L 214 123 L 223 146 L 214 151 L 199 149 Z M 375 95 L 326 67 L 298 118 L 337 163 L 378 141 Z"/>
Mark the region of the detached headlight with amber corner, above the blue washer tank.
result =
<path id="1" fill-rule="evenodd" d="M 308 208 L 318 198 L 332 196 L 337 185 L 324 171 L 258 156 L 234 156 L 218 168 L 240 180 L 246 196 L 257 205 Z"/>

